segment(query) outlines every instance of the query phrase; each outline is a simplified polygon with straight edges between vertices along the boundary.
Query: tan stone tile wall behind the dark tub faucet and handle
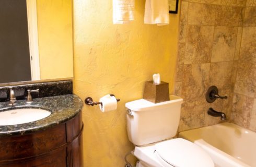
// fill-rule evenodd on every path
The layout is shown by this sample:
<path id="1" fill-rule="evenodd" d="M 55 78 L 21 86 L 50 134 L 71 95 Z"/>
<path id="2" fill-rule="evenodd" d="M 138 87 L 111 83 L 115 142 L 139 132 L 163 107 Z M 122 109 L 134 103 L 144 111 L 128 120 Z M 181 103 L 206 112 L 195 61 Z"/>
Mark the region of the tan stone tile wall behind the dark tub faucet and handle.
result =
<path id="1" fill-rule="evenodd" d="M 221 123 L 219 117 L 207 115 L 210 107 L 226 113 L 229 120 L 234 115 L 232 100 L 246 5 L 246 0 L 181 2 L 175 86 L 175 93 L 184 99 L 179 132 Z M 228 99 L 207 103 L 205 93 L 212 85 Z"/>

